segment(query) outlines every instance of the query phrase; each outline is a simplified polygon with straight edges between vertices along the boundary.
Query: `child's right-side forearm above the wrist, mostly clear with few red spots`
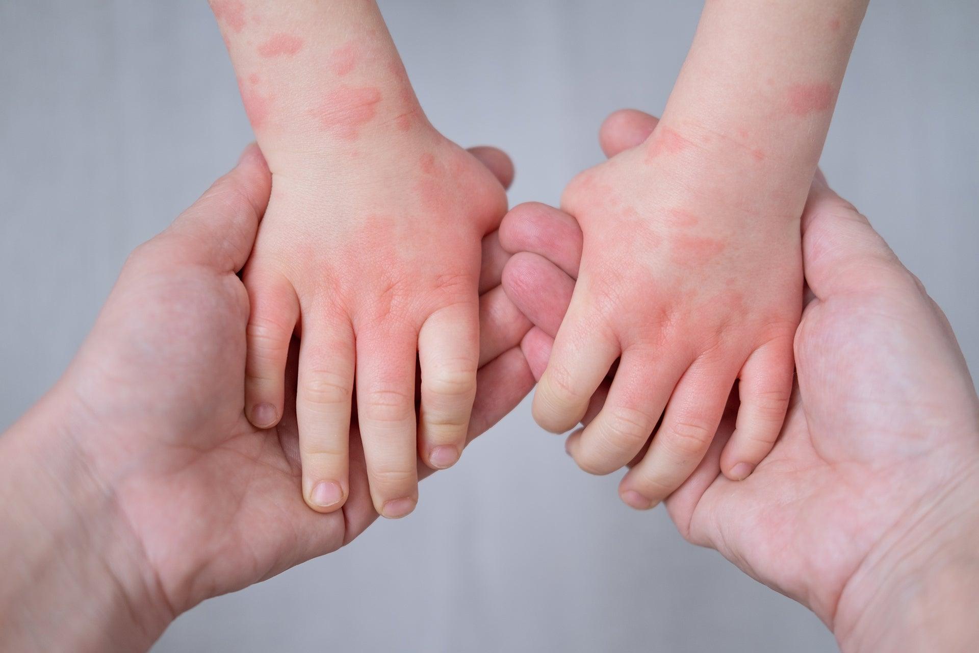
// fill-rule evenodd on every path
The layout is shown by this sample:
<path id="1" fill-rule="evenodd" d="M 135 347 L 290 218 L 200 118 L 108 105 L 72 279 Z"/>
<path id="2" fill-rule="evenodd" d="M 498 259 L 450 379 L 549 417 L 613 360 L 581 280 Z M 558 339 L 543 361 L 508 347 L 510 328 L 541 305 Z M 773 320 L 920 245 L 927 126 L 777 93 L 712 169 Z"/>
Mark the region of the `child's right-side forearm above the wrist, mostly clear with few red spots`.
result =
<path id="1" fill-rule="evenodd" d="M 866 4 L 708 0 L 664 112 L 661 128 L 673 131 L 658 147 L 691 145 L 737 170 L 715 177 L 732 201 L 750 186 L 779 209 L 801 209 Z"/>

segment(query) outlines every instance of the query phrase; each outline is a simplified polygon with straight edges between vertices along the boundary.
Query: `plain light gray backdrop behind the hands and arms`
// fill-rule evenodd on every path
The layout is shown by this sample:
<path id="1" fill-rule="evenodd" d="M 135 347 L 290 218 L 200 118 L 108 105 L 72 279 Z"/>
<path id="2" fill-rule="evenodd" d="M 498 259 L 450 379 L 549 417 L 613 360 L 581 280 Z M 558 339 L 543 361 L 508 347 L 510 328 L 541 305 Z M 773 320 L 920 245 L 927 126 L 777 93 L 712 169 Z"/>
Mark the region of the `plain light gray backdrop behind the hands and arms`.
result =
<path id="1" fill-rule="evenodd" d="M 659 112 L 694 2 L 382 2 L 432 121 L 555 202 L 608 112 Z M 823 157 L 979 369 L 979 4 L 870 8 Z M 55 381 L 126 253 L 250 140 L 204 0 L 0 2 L 0 427 Z M 181 617 L 159 651 L 828 651 L 806 610 L 578 472 L 526 404 L 348 549 Z"/>

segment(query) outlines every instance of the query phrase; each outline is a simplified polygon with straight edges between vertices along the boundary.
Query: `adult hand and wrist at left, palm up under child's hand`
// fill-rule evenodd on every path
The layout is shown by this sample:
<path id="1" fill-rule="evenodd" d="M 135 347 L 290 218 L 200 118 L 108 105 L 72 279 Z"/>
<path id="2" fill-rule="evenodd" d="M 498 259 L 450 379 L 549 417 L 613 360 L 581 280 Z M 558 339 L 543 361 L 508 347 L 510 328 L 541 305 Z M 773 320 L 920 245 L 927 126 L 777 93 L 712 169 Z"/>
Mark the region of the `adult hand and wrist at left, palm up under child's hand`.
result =
<path id="1" fill-rule="evenodd" d="M 505 155 L 473 154 L 509 183 Z M 68 372 L 0 439 L 0 560 L 17 572 L 0 583 L 0 649 L 147 647 L 196 603 L 333 551 L 376 518 L 355 425 L 350 500 L 319 514 L 303 501 L 295 400 L 272 430 L 243 411 L 249 302 L 236 273 L 269 192 L 252 147 L 129 257 Z M 493 233 L 470 439 L 534 383 L 519 348 L 531 325 L 499 287 L 505 258 Z"/>

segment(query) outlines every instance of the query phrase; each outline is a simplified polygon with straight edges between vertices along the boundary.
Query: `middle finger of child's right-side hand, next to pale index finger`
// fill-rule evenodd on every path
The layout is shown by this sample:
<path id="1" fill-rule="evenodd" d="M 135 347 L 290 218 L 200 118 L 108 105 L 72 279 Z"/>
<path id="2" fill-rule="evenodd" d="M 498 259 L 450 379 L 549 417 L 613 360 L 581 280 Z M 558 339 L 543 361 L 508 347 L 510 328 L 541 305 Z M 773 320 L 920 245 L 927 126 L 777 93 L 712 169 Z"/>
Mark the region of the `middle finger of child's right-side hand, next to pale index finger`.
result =
<path id="1" fill-rule="evenodd" d="M 652 435 L 682 367 L 678 361 L 658 364 L 645 351 L 624 351 L 605 405 L 568 439 L 578 466 L 589 474 L 610 474 L 629 463 Z"/>

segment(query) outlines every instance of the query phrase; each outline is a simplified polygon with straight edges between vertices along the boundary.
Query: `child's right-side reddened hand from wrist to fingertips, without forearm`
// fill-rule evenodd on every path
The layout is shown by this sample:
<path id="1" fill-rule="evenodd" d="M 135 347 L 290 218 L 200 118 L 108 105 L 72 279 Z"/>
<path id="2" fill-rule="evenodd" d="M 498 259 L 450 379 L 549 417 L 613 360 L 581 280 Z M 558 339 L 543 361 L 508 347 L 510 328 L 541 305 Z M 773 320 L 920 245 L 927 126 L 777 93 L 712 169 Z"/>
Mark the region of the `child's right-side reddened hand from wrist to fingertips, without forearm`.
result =
<path id="1" fill-rule="evenodd" d="M 661 125 L 583 172 L 562 198 L 581 225 L 583 257 L 534 415 L 549 431 L 571 429 L 621 358 L 605 406 L 568 449 L 584 470 L 607 474 L 655 429 L 621 486 L 633 507 L 655 505 L 690 476 L 735 379 L 741 408 L 724 473 L 750 474 L 781 428 L 802 306 L 799 220 L 770 214 L 768 197 L 729 190 L 757 173 L 757 157 Z M 523 210 L 546 209 L 514 212 Z"/>

